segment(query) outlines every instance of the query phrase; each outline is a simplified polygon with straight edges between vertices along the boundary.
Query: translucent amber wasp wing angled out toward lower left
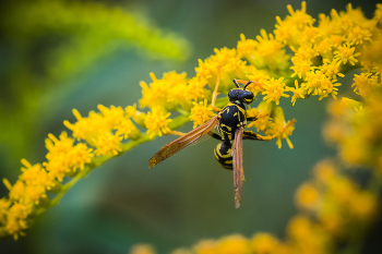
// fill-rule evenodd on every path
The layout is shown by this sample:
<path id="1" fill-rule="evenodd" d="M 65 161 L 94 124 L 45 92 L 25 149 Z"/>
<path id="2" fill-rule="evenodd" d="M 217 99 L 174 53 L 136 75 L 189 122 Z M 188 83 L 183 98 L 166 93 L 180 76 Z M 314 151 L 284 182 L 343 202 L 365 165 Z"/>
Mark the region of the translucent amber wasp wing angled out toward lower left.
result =
<path id="1" fill-rule="evenodd" d="M 218 125 L 218 123 L 219 123 L 219 114 L 216 114 L 203 125 L 190 131 L 189 133 L 182 135 L 178 140 L 175 140 L 171 143 L 168 143 L 167 145 L 162 147 L 162 149 L 148 160 L 148 167 L 150 168 L 154 167 L 155 165 L 167 159 L 168 157 L 175 155 L 179 150 L 191 145 L 192 143 L 198 141 L 200 137 L 204 136 L 205 134 L 208 134 L 214 128 Z"/>

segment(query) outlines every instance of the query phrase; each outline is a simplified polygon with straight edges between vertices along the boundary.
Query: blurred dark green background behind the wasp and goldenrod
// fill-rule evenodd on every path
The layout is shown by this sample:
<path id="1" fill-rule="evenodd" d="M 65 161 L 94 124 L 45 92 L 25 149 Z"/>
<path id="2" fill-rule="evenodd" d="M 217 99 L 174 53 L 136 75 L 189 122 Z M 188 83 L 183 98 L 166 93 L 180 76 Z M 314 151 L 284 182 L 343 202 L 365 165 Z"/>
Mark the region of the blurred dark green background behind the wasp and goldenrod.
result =
<path id="1" fill-rule="evenodd" d="M 164 72 L 184 71 L 192 77 L 198 59 L 207 58 L 214 48 L 236 47 L 241 33 L 247 38 L 255 38 L 261 28 L 272 33 L 275 16 L 288 14 L 287 4 L 294 10 L 301 7 L 296 0 L 94 2 L 134 13 L 164 32 L 174 32 L 189 41 L 192 51 L 184 52 L 184 61 L 153 58 L 115 38 L 102 41 L 94 52 L 74 56 L 77 70 L 58 65 L 49 71 L 51 48 L 70 48 L 71 32 L 53 31 L 33 40 L 35 35 L 20 28 L 27 27 L 23 11 L 33 10 L 25 10 L 21 1 L 0 3 L 0 176 L 11 183 L 20 174 L 21 158 L 31 164 L 45 160 L 47 134 L 58 136 L 65 130 L 63 120 L 74 122 L 73 108 L 87 116 L 98 104 L 132 105 L 141 97 L 139 82 L 151 82 L 150 72 L 160 78 Z M 331 9 L 345 10 L 347 3 L 307 1 L 307 12 L 317 19 Z M 372 1 L 351 3 L 361 7 L 368 17 L 375 9 Z M 82 41 L 82 34 L 75 39 Z M 341 82 L 349 86 L 350 81 Z M 164 136 L 96 168 L 58 206 L 38 218 L 26 237 L 0 242 L 0 253 L 127 253 L 135 243 L 151 243 L 159 253 L 169 253 L 201 239 L 231 233 L 251 237 L 267 231 L 282 238 L 295 214 L 295 190 L 310 177 L 315 162 L 335 154 L 321 137 L 326 101 L 311 98 L 297 101 L 295 107 L 289 99 L 280 101 L 286 119 L 297 120 L 294 149 L 286 143 L 282 149 L 274 142 L 243 143 L 246 182 L 239 209 L 234 205 L 231 172 L 215 161 L 213 138 L 148 169 L 151 156 L 175 138 Z M 181 131 L 191 129 L 190 123 Z M 5 186 L 0 186 L 0 194 L 8 194 Z"/>

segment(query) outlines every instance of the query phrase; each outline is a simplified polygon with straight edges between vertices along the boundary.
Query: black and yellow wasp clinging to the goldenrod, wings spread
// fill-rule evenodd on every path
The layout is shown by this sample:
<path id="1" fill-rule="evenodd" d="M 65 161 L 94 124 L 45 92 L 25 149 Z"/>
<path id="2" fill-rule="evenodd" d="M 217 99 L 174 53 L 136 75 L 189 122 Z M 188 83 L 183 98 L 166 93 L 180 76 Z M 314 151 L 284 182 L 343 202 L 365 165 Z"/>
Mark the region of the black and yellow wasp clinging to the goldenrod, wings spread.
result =
<path id="1" fill-rule="evenodd" d="M 243 88 L 240 88 L 238 82 L 246 83 L 244 81 L 234 80 L 234 84 L 237 88 L 229 90 L 229 102 L 223 109 L 215 107 L 217 84 L 215 87 L 212 106 L 215 111 L 218 111 L 218 113 L 203 125 L 162 147 L 162 149 L 148 160 L 148 167 L 152 168 L 187 146 L 193 144 L 204 135 L 210 135 L 220 141 L 220 143 L 215 147 L 214 154 L 223 168 L 234 171 L 236 208 L 240 206 L 242 182 L 244 181 L 242 168 L 242 140 L 268 141 L 272 138 L 270 136 L 261 136 L 254 132 L 244 130 L 247 121 L 258 120 L 256 117 L 248 117 L 246 110 L 246 104 L 250 105 L 254 100 L 253 93 L 246 88 L 248 85 L 254 82 L 249 81 Z M 218 126 L 219 134 L 213 132 L 216 126 Z"/>

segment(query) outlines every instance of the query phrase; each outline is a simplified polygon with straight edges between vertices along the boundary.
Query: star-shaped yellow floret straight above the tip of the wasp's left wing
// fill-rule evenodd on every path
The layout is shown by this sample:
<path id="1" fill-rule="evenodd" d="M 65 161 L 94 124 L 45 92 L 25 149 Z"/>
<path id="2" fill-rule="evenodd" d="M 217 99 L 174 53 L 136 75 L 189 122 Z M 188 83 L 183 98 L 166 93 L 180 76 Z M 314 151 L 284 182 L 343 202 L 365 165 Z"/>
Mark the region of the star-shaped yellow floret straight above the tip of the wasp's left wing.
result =
<path id="1" fill-rule="evenodd" d="M 168 119 L 170 113 L 164 114 L 158 107 L 155 107 L 151 112 L 147 112 L 144 123 L 147 128 L 150 138 L 153 138 L 155 135 L 162 136 L 170 131 L 168 123 L 172 120 Z"/>

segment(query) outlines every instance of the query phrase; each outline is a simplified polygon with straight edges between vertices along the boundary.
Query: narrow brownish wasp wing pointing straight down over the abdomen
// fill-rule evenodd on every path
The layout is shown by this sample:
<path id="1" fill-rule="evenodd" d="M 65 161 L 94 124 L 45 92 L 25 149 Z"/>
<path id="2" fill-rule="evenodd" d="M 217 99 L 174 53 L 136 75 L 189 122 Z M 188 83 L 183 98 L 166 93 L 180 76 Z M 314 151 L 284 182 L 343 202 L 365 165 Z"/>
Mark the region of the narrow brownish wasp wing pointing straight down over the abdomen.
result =
<path id="1" fill-rule="evenodd" d="M 242 136 L 244 129 L 242 126 L 235 131 L 235 141 L 232 148 L 234 160 L 234 188 L 235 188 L 235 205 L 239 208 L 241 201 L 242 182 L 244 181 L 244 171 L 242 169 Z"/>

